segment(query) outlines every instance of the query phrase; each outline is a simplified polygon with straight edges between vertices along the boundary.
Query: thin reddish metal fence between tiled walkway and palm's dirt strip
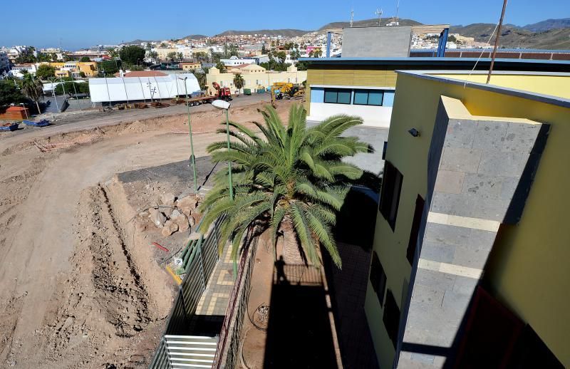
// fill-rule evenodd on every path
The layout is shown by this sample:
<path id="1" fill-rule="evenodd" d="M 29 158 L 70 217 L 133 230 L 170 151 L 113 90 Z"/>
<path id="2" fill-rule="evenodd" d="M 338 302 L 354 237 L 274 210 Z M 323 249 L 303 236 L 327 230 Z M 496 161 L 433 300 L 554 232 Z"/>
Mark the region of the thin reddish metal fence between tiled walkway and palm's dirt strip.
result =
<path id="1" fill-rule="evenodd" d="M 252 231 L 250 229 L 250 231 Z M 236 366 L 239 354 L 239 336 L 247 314 L 249 290 L 251 288 L 252 271 L 254 269 L 254 256 L 257 249 L 258 237 L 251 237 L 249 232 L 244 244 L 248 247 L 239 262 L 237 280 L 234 283 L 232 296 L 229 298 L 226 316 L 219 334 L 219 341 L 212 368 L 233 369 Z"/>

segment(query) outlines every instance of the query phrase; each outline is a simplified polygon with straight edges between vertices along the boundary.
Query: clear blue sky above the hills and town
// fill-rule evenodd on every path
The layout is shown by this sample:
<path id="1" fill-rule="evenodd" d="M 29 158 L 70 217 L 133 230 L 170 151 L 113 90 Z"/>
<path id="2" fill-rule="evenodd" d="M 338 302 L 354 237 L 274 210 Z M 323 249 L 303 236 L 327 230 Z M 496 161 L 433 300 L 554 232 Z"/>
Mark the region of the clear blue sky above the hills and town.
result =
<path id="1" fill-rule="evenodd" d="M 98 0 L 65 4 L 28 0 L 24 18 L 3 17 L 0 46 L 55 47 L 61 38 L 63 48 L 74 50 L 135 38 L 180 38 L 195 33 L 209 36 L 227 29 L 311 30 L 331 21 L 348 21 L 351 6 L 356 20 L 374 18 L 377 8 L 382 8 L 383 17 L 387 17 L 395 14 L 396 0 Z M 425 24 L 496 23 L 501 6 L 502 0 L 400 0 L 399 15 Z M 569 0 L 511 0 L 505 22 L 524 26 L 569 16 Z"/>

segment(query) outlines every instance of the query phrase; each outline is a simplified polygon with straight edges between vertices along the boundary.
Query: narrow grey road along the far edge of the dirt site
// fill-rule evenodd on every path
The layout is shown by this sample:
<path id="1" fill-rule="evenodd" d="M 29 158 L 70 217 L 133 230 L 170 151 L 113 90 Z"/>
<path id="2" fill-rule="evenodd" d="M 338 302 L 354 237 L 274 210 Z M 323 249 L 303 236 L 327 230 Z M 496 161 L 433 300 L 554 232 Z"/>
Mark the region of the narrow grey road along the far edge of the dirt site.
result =
<path id="1" fill-rule="evenodd" d="M 232 107 L 239 107 L 259 103 L 260 101 L 271 102 L 269 93 L 260 93 L 252 95 L 240 95 L 234 97 Z M 198 113 L 202 111 L 212 110 L 212 105 L 198 105 L 190 107 L 190 113 Z M 231 108 L 230 108 L 231 109 Z M 157 118 L 167 115 L 178 115 L 186 113 L 184 104 L 172 105 L 167 108 L 146 108 L 133 110 L 111 110 L 100 112 L 98 110 L 83 110 L 64 113 L 44 113 L 40 118 L 51 121 L 51 125 L 44 128 L 28 127 L 20 125 L 19 130 L 12 132 L 3 132 L 0 134 L 0 140 L 15 135 L 28 135 L 33 132 L 38 133 L 41 130 L 42 135 L 53 135 L 58 133 L 71 132 L 73 130 L 83 130 L 95 127 L 103 127 L 105 125 L 116 125 L 119 123 L 132 122 L 134 120 Z"/>

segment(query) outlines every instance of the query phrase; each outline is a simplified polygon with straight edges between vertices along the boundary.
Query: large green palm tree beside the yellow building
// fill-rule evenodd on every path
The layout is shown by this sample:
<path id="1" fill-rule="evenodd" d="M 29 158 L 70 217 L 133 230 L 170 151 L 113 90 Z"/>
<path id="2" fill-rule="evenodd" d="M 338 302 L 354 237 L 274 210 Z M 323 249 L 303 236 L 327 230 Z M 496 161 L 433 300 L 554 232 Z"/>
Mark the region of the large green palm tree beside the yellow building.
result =
<path id="1" fill-rule="evenodd" d="M 274 108 L 261 112 L 265 123 L 254 123 L 260 134 L 239 123 L 230 123 L 235 140 L 209 145 L 208 152 L 217 162 L 232 162 L 234 199 L 229 197 L 227 172 L 214 177 L 214 187 L 199 210 L 204 212 L 207 229 L 218 217 L 226 216 L 219 239 L 221 253 L 232 241 L 232 257 L 237 259 L 239 245 L 249 226 L 271 229 L 276 247 L 284 237 L 283 256 L 289 264 L 320 264 L 323 246 L 334 263 L 341 267 L 333 227 L 336 214 L 352 185 L 360 184 L 364 172 L 343 162 L 343 157 L 372 152 L 357 137 L 341 137 L 348 128 L 360 125 L 361 118 L 335 115 L 322 123 L 306 127 L 306 110 L 293 105 L 287 126 Z M 221 130 L 225 132 L 225 130 Z"/>

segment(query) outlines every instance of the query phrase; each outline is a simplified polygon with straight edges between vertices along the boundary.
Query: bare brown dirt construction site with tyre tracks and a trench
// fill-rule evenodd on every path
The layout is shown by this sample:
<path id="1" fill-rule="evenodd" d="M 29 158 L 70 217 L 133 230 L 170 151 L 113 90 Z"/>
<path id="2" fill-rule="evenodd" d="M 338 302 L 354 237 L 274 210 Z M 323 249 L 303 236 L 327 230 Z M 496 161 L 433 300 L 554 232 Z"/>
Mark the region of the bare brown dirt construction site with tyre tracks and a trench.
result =
<path id="1" fill-rule="evenodd" d="M 266 104 L 230 119 L 259 121 Z M 192 113 L 198 182 L 224 118 Z M 96 122 L 0 134 L 0 368 L 144 368 L 164 330 L 177 291 L 165 261 L 188 235 L 172 209 L 148 209 L 192 193 L 187 115 Z"/>

